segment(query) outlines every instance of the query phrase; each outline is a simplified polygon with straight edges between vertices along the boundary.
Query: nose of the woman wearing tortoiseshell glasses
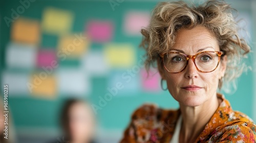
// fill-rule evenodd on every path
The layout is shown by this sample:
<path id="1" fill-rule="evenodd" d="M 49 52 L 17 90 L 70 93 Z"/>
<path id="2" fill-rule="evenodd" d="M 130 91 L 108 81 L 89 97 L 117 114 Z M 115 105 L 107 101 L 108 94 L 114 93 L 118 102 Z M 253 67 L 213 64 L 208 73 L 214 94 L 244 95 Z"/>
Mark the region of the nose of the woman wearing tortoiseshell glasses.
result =
<path id="1" fill-rule="evenodd" d="M 193 79 L 198 77 L 198 69 L 192 59 L 188 60 L 186 69 L 185 69 L 185 78 Z"/>

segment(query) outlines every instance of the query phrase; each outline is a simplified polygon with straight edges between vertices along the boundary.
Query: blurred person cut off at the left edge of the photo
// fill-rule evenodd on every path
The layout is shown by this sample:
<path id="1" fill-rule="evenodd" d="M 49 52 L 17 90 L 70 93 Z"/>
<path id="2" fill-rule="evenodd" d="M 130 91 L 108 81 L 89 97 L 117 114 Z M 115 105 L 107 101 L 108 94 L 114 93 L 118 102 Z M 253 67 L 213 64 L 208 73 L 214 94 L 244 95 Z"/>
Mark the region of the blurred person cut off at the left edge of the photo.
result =
<path id="1" fill-rule="evenodd" d="M 10 106 L 8 104 L 8 122 L 6 121 L 5 117 L 5 110 L 4 110 L 4 101 L 2 97 L 0 97 L 0 142 L 1 143 L 15 143 L 16 142 L 16 136 L 15 136 L 15 130 L 12 124 L 12 118 L 11 118 L 11 112 L 10 112 Z M 7 124 L 8 123 L 8 124 Z M 6 134 L 6 126 L 8 126 L 8 136 Z M 7 138 L 5 138 L 7 136 Z"/>

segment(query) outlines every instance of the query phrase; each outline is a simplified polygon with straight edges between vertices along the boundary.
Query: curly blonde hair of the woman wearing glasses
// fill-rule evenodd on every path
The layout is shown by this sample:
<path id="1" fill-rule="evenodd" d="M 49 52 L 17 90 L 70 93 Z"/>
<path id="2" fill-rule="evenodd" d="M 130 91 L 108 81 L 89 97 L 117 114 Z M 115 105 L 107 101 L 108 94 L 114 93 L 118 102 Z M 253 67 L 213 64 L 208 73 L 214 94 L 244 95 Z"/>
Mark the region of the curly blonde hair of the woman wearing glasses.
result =
<path id="1" fill-rule="evenodd" d="M 225 81 L 238 78 L 246 66 L 243 56 L 250 52 L 250 47 L 239 37 L 239 26 L 231 13 L 233 10 L 224 1 L 214 0 L 199 6 L 183 1 L 159 3 L 153 10 L 150 24 L 141 30 L 141 46 L 146 51 L 146 69 L 149 70 L 151 65 L 160 60 L 159 54 L 172 49 L 181 28 L 203 26 L 216 36 L 220 50 L 227 55 Z M 221 87 L 222 81 L 219 82 Z"/>

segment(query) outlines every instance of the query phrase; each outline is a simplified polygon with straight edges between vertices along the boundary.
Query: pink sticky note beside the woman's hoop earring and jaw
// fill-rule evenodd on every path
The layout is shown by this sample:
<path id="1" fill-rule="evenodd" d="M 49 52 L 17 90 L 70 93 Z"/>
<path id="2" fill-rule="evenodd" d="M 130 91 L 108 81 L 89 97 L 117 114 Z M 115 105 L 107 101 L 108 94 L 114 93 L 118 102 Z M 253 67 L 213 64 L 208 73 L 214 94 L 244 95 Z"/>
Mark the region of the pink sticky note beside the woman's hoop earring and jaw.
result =
<path id="1" fill-rule="evenodd" d="M 160 90 L 160 75 L 156 70 L 150 70 L 148 75 L 145 69 L 141 70 L 142 88 L 146 91 Z"/>

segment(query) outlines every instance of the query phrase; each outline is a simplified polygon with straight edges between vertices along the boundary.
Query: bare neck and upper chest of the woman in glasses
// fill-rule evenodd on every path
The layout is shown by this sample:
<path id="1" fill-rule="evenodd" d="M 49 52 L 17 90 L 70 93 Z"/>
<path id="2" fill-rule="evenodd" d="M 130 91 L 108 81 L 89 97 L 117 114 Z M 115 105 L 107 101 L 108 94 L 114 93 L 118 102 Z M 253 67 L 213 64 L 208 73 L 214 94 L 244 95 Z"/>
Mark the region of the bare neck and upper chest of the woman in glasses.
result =
<path id="1" fill-rule="evenodd" d="M 195 142 L 211 116 L 219 107 L 220 102 L 217 95 L 214 94 L 208 101 L 197 107 L 180 104 L 182 115 L 180 142 Z"/>

